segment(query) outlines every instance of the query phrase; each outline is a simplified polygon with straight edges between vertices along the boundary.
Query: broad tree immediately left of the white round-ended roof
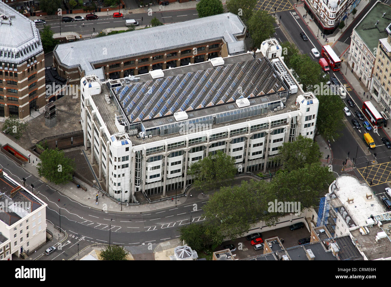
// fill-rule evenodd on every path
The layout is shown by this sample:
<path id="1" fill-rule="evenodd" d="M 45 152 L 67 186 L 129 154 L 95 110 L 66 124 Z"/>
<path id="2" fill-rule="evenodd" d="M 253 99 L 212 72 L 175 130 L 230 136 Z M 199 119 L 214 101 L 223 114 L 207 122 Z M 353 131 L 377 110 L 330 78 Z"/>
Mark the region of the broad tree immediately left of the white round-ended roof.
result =
<path id="1" fill-rule="evenodd" d="M 307 164 L 304 168 L 279 173 L 269 184 L 277 201 L 300 202 L 300 209 L 319 206 L 319 196 L 325 193 L 335 180 L 328 166 L 319 162 Z"/>

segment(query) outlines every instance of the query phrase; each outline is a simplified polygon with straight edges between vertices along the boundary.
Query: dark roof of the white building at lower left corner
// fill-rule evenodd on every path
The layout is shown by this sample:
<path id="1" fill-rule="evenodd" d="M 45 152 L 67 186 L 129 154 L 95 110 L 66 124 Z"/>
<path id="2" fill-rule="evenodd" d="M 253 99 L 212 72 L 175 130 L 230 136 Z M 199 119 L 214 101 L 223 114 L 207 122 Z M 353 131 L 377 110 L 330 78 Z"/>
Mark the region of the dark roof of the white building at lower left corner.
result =
<path id="1" fill-rule="evenodd" d="M 11 191 L 16 191 L 11 195 Z M 6 208 L 4 212 L 0 212 L 0 220 L 11 226 L 23 218 L 23 214 L 28 214 L 43 205 L 43 202 L 33 196 L 30 192 L 20 185 L 14 184 L 8 176 L 0 175 L 0 201 L 6 203 L 20 202 L 24 204 L 25 209 L 22 212 L 13 212 Z M 27 207 L 30 206 L 30 209 Z M 4 207 L 3 207 L 4 208 Z"/>

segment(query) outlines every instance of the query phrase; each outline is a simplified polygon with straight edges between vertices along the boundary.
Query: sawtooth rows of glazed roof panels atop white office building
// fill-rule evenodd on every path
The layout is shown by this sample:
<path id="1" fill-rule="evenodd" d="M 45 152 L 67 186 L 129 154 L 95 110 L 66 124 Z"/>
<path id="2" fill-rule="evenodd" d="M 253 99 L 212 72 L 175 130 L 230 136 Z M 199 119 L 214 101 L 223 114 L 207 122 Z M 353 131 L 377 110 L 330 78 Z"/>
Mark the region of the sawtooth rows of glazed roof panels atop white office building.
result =
<path id="1" fill-rule="evenodd" d="M 178 70 L 180 72 L 180 70 Z M 239 88 L 240 87 L 240 88 Z M 264 58 L 116 87 L 131 122 L 285 90 Z"/>

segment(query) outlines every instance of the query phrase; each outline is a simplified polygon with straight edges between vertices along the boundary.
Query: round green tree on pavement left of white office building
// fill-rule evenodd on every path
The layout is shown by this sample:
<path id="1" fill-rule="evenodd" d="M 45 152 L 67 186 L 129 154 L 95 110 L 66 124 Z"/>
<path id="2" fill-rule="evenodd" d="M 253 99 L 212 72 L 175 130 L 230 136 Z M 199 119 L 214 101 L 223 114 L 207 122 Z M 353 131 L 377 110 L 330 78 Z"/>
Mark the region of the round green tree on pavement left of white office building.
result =
<path id="1" fill-rule="evenodd" d="M 37 147 L 43 149 L 37 144 Z M 74 159 L 64 156 L 64 152 L 56 148 L 55 150 L 44 150 L 37 164 L 39 176 L 44 176 L 47 180 L 55 184 L 66 184 L 72 180 L 74 172 Z"/>

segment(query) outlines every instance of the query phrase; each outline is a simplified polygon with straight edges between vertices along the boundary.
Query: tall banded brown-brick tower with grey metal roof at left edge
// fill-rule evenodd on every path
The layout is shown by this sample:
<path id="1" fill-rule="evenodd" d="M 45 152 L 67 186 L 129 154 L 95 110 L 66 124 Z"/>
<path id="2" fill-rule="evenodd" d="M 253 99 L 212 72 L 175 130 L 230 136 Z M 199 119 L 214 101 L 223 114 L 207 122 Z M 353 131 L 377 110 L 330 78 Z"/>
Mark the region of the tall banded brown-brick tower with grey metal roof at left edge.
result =
<path id="1" fill-rule="evenodd" d="M 0 35 L 0 117 L 24 119 L 45 105 L 41 38 L 33 21 L 5 4 Z"/>

